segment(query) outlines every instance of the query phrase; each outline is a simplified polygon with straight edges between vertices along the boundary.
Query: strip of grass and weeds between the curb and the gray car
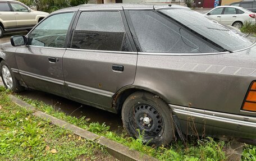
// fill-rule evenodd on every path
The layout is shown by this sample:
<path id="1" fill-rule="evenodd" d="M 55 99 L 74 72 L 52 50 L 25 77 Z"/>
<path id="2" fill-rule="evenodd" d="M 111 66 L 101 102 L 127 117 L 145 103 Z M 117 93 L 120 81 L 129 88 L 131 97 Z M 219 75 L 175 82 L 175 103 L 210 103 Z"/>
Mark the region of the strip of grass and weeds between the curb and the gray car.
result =
<path id="1" fill-rule="evenodd" d="M 191 137 L 189 141 L 184 145 L 179 139 L 173 141 L 168 147 L 161 146 L 158 148 L 144 145 L 142 139 L 134 139 L 129 137 L 126 132 L 122 134 L 116 134 L 115 132 L 109 131 L 109 127 L 104 123 L 98 122 L 88 123 L 85 117 L 72 117 L 68 116 L 63 112 L 55 111 L 51 105 L 32 100 L 24 96 L 17 95 L 20 99 L 33 105 L 40 111 L 51 114 L 54 117 L 60 118 L 64 121 L 72 123 L 76 126 L 94 132 L 95 134 L 105 136 L 111 140 L 120 142 L 123 145 L 128 146 L 130 149 L 138 150 L 141 154 L 148 154 L 159 160 L 226 160 L 225 148 L 226 144 L 224 141 L 212 139 L 207 137 L 202 140 L 198 140 Z"/>

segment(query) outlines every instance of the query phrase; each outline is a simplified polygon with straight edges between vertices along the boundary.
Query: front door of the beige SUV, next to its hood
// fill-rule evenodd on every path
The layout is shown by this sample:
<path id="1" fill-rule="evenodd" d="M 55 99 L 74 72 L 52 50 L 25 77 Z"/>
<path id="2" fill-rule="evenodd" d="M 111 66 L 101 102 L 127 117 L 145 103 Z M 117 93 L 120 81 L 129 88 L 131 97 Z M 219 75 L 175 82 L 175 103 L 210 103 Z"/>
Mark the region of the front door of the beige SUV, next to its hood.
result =
<path id="1" fill-rule="evenodd" d="M 18 2 L 10 2 L 10 4 L 15 14 L 17 27 L 33 26 L 36 24 L 35 15 L 26 6 Z"/>

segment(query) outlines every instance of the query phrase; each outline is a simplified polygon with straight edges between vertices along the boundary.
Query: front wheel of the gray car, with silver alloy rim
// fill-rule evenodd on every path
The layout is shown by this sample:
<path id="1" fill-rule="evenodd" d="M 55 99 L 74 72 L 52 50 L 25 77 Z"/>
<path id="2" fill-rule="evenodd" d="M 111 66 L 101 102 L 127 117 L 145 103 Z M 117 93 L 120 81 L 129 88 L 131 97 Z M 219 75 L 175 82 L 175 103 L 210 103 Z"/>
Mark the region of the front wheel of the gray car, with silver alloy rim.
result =
<path id="1" fill-rule="evenodd" d="M 17 79 L 13 76 L 13 72 L 7 66 L 6 62 L 1 61 L 0 68 L 0 75 L 6 89 L 12 90 L 14 92 L 19 92 L 24 89 L 22 86 L 20 86 L 19 81 L 17 81 Z"/>

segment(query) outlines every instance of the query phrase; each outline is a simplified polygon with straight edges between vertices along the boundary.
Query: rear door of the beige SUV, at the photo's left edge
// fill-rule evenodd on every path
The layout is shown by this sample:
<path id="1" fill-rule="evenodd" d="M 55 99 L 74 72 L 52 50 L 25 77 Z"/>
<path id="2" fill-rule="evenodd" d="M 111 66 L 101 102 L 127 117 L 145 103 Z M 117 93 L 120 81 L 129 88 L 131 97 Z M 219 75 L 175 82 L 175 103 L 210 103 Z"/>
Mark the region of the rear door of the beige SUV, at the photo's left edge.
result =
<path id="1" fill-rule="evenodd" d="M 16 20 L 14 13 L 7 2 L 0 1 L 0 21 L 5 28 L 16 27 Z"/>

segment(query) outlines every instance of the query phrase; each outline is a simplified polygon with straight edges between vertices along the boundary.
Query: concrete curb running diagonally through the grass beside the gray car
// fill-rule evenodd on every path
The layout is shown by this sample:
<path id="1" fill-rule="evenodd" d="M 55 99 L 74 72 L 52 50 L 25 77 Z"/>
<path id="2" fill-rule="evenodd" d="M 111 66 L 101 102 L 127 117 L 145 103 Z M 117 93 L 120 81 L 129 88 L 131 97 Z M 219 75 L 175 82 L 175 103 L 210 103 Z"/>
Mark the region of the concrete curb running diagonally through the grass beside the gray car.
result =
<path id="1" fill-rule="evenodd" d="M 84 130 L 83 128 L 72 125 L 71 123 L 62 121 L 56 117 L 53 117 L 47 113 L 36 110 L 35 107 L 31 106 L 28 103 L 20 100 L 16 96 L 9 95 L 12 102 L 19 105 L 22 108 L 27 109 L 28 111 L 33 112 L 33 115 L 36 117 L 40 117 L 44 120 L 50 121 L 53 125 L 65 128 L 66 130 L 70 130 L 74 132 L 74 134 L 84 137 L 85 139 L 97 142 L 100 145 L 106 146 L 108 152 L 113 155 L 115 158 L 119 160 L 125 161 L 133 161 L 133 160 L 141 160 L 141 161 L 154 161 L 156 158 L 150 157 L 148 155 L 142 154 L 139 151 L 131 150 L 127 146 L 124 146 L 118 142 L 107 139 L 106 137 L 99 136 L 94 134 L 88 130 Z"/>

